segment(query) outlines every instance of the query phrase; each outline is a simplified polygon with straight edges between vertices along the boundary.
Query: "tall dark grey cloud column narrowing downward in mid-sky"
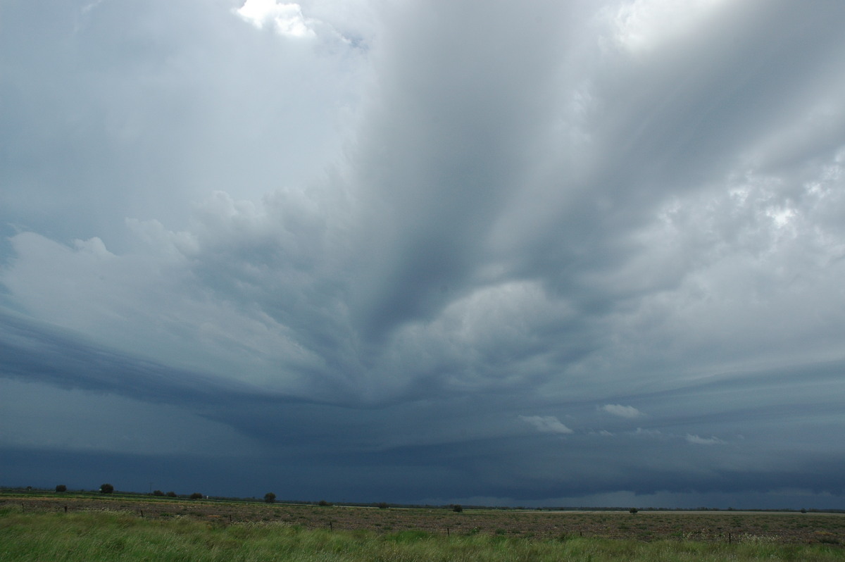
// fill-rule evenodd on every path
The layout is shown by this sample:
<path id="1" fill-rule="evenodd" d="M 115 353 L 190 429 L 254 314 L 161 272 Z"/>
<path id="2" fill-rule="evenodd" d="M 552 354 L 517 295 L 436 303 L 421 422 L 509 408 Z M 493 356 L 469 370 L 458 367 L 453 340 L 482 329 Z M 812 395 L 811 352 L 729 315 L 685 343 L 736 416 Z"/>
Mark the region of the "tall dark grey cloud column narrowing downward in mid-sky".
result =
<path id="1" fill-rule="evenodd" d="M 474 278 L 490 257 L 485 238 L 520 185 L 553 102 L 567 30 L 540 18 L 548 10 L 567 20 L 553 4 L 395 9 L 357 177 L 371 201 L 365 233 L 375 250 L 357 308 L 373 336 L 431 319 L 489 281 Z"/>

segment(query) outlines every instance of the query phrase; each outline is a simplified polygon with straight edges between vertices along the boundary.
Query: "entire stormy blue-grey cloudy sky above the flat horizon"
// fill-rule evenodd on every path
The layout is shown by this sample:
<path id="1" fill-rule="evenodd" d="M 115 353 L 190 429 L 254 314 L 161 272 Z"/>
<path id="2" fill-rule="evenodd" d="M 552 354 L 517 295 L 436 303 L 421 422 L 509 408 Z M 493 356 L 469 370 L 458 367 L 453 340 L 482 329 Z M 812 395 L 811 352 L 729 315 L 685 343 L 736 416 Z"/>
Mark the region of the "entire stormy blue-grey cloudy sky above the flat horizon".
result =
<path id="1" fill-rule="evenodd" d="M 845 508 L 843 28 L 0 0 L 0 485 Z"/>

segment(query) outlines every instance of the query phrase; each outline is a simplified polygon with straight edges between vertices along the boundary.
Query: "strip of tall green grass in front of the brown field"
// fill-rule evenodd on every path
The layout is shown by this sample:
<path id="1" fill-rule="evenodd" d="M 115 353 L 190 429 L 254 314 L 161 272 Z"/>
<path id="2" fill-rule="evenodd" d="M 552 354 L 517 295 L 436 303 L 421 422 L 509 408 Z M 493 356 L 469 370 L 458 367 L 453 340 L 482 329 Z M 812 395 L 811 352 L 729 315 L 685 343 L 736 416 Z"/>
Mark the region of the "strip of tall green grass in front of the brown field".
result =
<path id="1" fill-rule="evenodd" d="M 210 524 L 134 513 L 0 511 L 0 560 L 845 560 L 845 549 L 777 543 L 641 543 L 605 538 L 539 540 L 484 534 L 331 532 L 281 523 Z"/>

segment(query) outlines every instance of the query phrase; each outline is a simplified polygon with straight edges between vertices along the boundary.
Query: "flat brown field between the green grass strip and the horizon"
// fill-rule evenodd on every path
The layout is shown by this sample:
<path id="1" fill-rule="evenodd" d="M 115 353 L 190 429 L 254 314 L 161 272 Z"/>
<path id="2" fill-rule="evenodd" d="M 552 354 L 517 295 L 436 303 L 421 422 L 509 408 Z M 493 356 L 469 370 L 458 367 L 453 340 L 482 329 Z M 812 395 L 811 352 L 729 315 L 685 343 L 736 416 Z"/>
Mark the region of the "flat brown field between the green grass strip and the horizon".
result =
<path id="1" fill-rule="evenodd" d="M 845 514 L 742 511 L 538 511 L 345 507 L 189 499 L 0 495 L 0 509 L 122 510 L 143 517 L 190 517 L 212 524 L 278 523 L 333 530 L 422 530 L 519 537 L 567 536 L 706 542 L 825 543 L 845 546 Z"/>

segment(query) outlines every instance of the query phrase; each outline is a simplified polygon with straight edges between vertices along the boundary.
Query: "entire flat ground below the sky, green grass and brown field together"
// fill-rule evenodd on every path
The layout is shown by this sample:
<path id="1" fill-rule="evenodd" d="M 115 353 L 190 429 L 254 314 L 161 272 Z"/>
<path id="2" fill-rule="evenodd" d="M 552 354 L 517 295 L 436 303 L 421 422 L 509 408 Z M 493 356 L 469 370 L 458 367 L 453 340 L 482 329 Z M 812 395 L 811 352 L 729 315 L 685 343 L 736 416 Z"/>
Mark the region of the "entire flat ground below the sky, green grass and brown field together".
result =
<path id="1" fill-rule="evenodd" d="M 4 562 L 845 560 L 839 514 L 454 513 L 118 497 L 0 501 Z"/>

